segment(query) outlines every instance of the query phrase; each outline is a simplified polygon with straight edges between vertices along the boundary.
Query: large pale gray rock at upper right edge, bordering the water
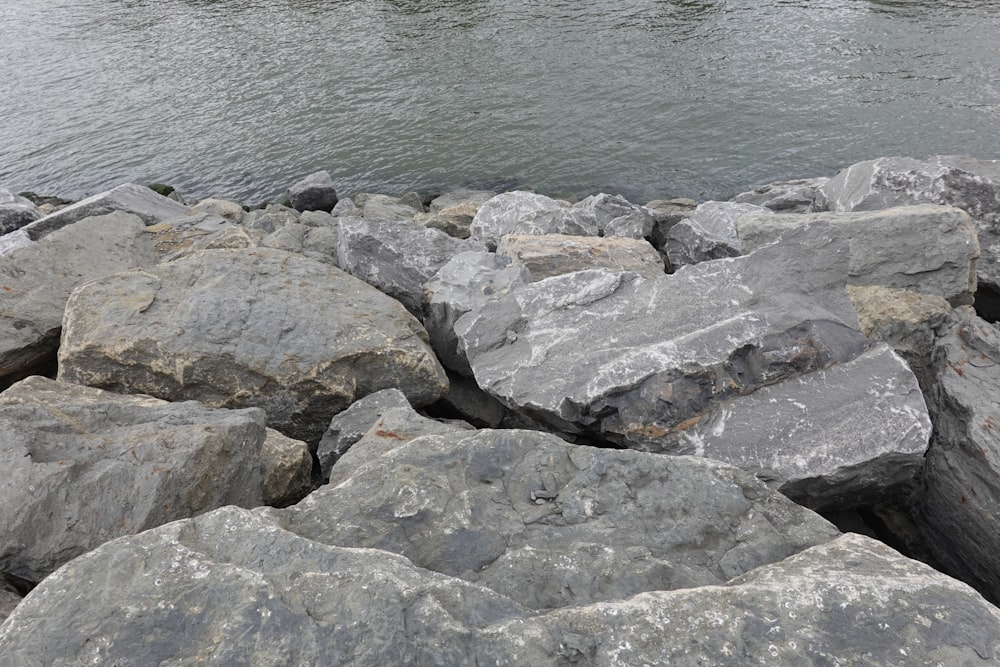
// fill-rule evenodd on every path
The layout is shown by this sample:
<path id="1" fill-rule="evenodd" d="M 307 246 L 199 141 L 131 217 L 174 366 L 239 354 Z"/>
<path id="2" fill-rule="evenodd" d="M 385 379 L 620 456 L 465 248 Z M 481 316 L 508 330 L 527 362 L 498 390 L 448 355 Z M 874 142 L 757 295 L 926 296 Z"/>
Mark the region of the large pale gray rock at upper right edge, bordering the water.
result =
<path id="1" fill-rule="evenodd" d="M 883 157 L 844 169 L 816 193 L 817 210 L 875 211 L 910 204 L 964 209 L 976 222 L 979 282 L 1000 291 L 1000 160 Z"/>

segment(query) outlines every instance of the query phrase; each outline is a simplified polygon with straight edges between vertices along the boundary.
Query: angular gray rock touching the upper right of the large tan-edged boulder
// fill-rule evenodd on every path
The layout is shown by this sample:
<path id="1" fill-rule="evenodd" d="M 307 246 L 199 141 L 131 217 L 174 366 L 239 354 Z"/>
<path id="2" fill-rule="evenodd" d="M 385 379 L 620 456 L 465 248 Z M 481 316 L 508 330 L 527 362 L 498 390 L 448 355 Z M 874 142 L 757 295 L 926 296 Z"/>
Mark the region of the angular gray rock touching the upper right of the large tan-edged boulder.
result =
<path id="1" fill-rule="evenodd" d="M 340 266 L 414 314 L 423 310 L 423 285 L 438 269 L 458 253 L 482 248 L 412 220 L 340 219 Z"/>

